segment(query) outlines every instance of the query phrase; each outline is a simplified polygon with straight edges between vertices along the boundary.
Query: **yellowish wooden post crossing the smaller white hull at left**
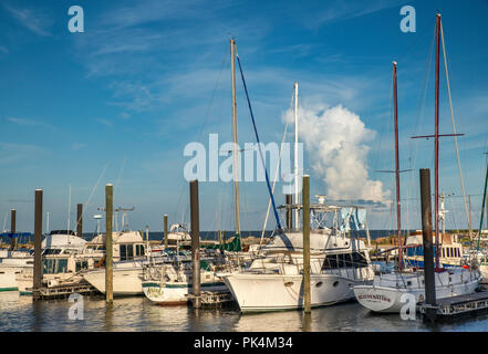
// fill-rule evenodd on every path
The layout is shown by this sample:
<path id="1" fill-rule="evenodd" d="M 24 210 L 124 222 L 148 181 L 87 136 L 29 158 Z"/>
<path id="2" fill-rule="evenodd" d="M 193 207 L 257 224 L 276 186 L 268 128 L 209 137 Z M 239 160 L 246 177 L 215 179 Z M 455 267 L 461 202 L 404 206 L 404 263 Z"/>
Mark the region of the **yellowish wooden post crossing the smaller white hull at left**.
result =
<path id="1" fill-rule="evenodd" d="M 114 186 L 105 185 L 105 301 L 114 301 L 114 269 L 112 243 L 112 218 L 114 214 Z"/>

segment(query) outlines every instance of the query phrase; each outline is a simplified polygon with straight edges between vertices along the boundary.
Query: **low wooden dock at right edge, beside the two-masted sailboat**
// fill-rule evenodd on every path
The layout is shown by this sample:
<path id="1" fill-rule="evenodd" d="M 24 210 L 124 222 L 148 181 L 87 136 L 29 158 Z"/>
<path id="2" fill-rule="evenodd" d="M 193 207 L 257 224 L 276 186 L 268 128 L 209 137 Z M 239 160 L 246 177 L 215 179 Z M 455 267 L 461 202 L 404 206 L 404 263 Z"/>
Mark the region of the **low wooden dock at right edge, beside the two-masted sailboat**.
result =
<path id="1" fill-rule="evenodd" d="M 417 310 L 425 315 L 429 304 L 420 303 Z M 438 299 L 436 301 L 436 316 L 438 320 L 451 320 L 464 315 L 476 315 L 488 312 L 488 291 L 473 294 Z"/>

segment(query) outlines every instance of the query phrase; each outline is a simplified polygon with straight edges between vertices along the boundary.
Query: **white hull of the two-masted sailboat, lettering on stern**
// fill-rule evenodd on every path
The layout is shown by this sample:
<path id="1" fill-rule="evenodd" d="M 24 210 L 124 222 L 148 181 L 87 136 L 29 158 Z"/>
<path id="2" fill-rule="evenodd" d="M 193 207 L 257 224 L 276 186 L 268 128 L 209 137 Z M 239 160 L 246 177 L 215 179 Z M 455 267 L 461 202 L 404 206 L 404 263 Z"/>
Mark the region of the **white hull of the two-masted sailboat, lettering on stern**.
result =
<path id="1" fill-rule="evenodd" d="M 436 273 L 436 299 L 444 299 L 449 296 L 457 296 L 464 294 L 470 294 L 476 291 L 479 284 L 479 277 L 469 277 L 469 272 L 465 272 L 465 277 L 458 281 L 453 281 L 449 283 L 449 274 L 446 272 Z M 447 277 L 445 277 L 447 275 Z M 442 279 L 443 277 L 443 279 Z M 456 275 L 454 275 L 456 277 Z M 414 283 L 413 287 L 397 288 L 397 287 L 382 287 L 377 284 L 373 285 L 355 285 L 354 294 L 356 300 L 364 308 L 382 313 L 399 313 L 402 308 L 406 304 L 407 300 L 403 299 L 403 294 L 413 294 L 415 296 L 415 302 L 422 302 L 425 300 L 425 288 L 420 285 L 423 283 L 424 277 L 409 277 L 405 279 L 411 279 L 414 282 L 419 280 L 419 283 Z"/>

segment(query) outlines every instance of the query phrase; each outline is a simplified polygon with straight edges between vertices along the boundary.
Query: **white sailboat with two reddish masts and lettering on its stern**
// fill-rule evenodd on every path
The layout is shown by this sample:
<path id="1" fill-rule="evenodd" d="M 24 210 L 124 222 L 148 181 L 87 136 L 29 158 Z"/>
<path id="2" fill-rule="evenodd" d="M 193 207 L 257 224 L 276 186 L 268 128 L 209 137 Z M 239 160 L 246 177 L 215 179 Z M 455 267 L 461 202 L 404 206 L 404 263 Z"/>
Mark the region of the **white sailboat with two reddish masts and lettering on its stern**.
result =
<path id="1" fill-rule="evenodd" d="M 438 83 L 439 83 L 439 34 L 440 14 L 436 20 L 437 56 L 436 56 L 436 119 L 435 119 L 435 293 L 437 299 L 469 294 L 476 291 L 480 280 L 478 270 L 465 268 L 440 268 L 439 253 L 439 194 L 438 194 Z M 395 140 L 397 142 L 397 102 L 396 102 L 396 63 L 393 64 L 394 73 L 394 106 L 395 106 Z M 398 144 L 395 144 L 398 156 Z M 398 176 L 398 160 L 396 158 L 396 175 Z M 399 237 L 399 179 L 397 184 L 397 225 Z M 372 285 L 355 285 L 354 294 L 364 308 L 374 312 L 398 313 L 405 304 L 402 301 L 404 294 L 413 294 L 416 302 L 425 300 L 425 279 L 423 269 L 403 269 L 402 242 L 398 238 L 398 269 L 391 273 L 380 274 L 374 278 Z"/>

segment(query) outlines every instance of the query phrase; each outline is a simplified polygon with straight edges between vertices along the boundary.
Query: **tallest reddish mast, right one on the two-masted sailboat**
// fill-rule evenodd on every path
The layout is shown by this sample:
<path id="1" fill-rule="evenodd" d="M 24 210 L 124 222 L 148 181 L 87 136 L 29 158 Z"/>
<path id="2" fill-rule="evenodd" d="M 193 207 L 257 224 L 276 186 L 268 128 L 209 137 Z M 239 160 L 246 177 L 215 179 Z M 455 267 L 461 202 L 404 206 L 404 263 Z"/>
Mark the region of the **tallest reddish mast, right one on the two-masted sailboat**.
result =
<path id="1" fill-rule="evenodd" d="M 436 228 L 436 269 L 439 268 L 439 39 L 440 13 L 436 19 L 436 131 L 435 131 L 435 228 Z"/>

